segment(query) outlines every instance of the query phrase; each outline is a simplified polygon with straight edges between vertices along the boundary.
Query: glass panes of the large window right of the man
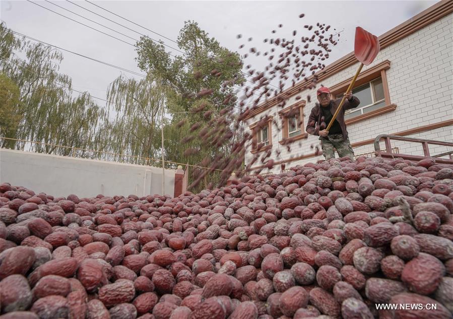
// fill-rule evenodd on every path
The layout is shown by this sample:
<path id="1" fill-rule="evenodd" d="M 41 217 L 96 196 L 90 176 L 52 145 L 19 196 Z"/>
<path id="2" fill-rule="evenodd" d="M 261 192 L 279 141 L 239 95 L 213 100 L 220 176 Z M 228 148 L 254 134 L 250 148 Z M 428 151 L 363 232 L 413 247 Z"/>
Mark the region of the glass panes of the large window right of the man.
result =
<path id="1" fill-rule="evenodd" d="M 360 108 L 347 110 L 345 120 L 352 119 L 358 115 L 371 112 L 385 106 L 385 96 L 382 86 L 382 78 L 368 82 L 352 90 L 352 94 L 360 100 Z M 337 98 L 342 98 L 341 94 Z M 363 105 L 363 106 L 362 106 Z"/>

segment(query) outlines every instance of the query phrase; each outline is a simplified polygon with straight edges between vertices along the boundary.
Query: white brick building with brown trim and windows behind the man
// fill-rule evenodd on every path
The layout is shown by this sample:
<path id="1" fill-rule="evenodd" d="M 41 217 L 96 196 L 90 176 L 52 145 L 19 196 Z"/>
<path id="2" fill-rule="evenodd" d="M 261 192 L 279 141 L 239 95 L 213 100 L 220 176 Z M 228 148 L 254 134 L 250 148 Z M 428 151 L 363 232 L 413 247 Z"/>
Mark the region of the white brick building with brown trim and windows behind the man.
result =
<path id="1" fill-rule="evenodd" d="M 356 155 L 372 156 L 373 141 L 380 134 L 453 141 L 452 39 L 451 1 L 439 2 L 379 36 L 380 52 L 371 65 L 363 67 L 353 88 L 360 105 L 345 115 Z M 327 86 L 341 97 L 358 67 L 352 52 L 317 72 L 315 88 L 302 81 L 282 92 L 287 96 L 284 108 L 273 98 L 249 112 L 244 123 L 253 138 L 245 145 L 245 165 L 267 173 L 279 172 L 282 163 L 289 168 L 324 159 L 316 150 L 318 136 L 305 132 L 316 89 Z M 312 97 L 310 102 L 305 100 L 307 95 Z M 421 144 L 393 141 L 392 147 L 395 152 L 423 155 Z M 448 150 L 429 147 L 430 154 Z M 271 169 L 260 161 L 269 151 L 268 158 L 275 164 Z"/>

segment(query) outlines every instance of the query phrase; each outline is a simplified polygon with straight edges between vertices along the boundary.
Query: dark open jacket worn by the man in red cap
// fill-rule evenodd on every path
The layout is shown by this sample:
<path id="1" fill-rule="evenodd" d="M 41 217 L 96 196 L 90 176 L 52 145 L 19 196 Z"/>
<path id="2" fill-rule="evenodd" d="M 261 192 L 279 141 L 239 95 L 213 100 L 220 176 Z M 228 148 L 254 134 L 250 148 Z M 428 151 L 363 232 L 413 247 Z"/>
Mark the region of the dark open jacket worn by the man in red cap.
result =
<path id="1" fill-rule="evenodd" d="M 326 108 L 330 108 L 330 111 L 332 114 L 335 114 L 335 111 L 337 111 L 338 105 L 340 105 L 341 98 L 337 100 L 331 100 L 330 104 Z M 345 100 L 343 103 L 342 110 L 338 113 L 336 120 L 340 124 L 341 131 L 343 133 L 343 139 L 346 141 L 346 138 L 348 137 L 348 131 L 346 130 L 346 124 L 345 124 L 345 111 L 349 109 L 354 109 L 357 108 L 360 104 L 360 101 L 357 97 L 352 96 L 352 100 Z M 311 135 L 318 135 L 319 132 L 319 126 L 321 124 L 321 110 L 322 108 L 319 103 L 316 103 L 315 107 L 311 109 L 310 116 L 308 117 L 308 122 L 307 122 L 307 127 L 305 128 L 305 131 L 308 134 Z M 329 125 L 329 123 L 326 123 L 326 126 Z"/>

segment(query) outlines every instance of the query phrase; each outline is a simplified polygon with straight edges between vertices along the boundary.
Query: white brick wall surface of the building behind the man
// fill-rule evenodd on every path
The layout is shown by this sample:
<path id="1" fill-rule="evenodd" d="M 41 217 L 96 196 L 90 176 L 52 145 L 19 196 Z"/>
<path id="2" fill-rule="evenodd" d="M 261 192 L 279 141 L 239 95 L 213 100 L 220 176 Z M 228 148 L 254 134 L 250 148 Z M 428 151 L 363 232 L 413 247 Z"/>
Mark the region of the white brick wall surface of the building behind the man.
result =
<path id="1" fill-rule="evenodd" d="M 389 60 L 391 67 L 386 71 L 387 83 L 389 85 L 390 100 L 397 105 L 393 112 L 386 113 L 369 120 L 354 123 L 348 126 L 349 139 L 351 143 L 375 138 L 379 134 L 391 134 L 404 130 L 416 128 L 423 125 L 433 124 L 453 118 L 453 14 L 414 32 L 413 34 L 399 40 L 398 42 L 382 49 L 373 63 L 364 66 L 362 72 L 372 68 L 382 61 Z M 320 84 L 333 86 L 347 78 L 352 77 L 359 63 L 352 65 L 341 72 L 334 74 L 328 79 L 318 83 L 315 89 L 305 90 L 301 95 L 306 99 L 310 95 L 311 102 L 304 108 L 304 123 L 314 106 L 316 89 Z M 288 99 L 286 106 L 295 103 L 295 96 Z M 258 121 L 263 115 L 273 115 L 281 128 L 278 117 L 278 107 L 273 107 L 263 114 L 257 115 L 248 120 L 248 125 Z M 247 126 L 248 126 L 247 125 Z M 275 161 L 313 153 L 310 146 L 319 145 L 318 137 L 309 135 L 307 139 L 296 141 L 290 144 L 288 152 L 286 146 L 278 143 L 282 138 L 282 132 L 277 132 L 277 127 L 272 128 L 273 152 L 270 158 Z M 444 127 L 430 132 L 415 134 L 410 137 L 435 139 L 440 141 L 453 140 L 453 127 Z M 395 144 L 395 145 L 394 145 Z M 392 147 L 400 148 L 400 153 L 423 155 L 421 147 L 406 145 L 404 142 L 394 141 Z M 277 149 L 280 149 L 281 156 L 276 156 Z M 254 154 L 250 153 L 251 143 L 246 145 L 245 164 L 247 165 Z M 365 145 L 354 149 L 355 153 L 373 151 L 373 145 Z M 447 149 L 442 146 L 431 146 L 431 154 L 445 152 Z M 291 162 L 286 164 L 287 168 L 316 162 L 323 159 L 323 156 L 311 157 L 304 161 Z M 253 166 L 261 165 L 260 160 Z M 280 167 L 274 168 L 279 171 Z M 267 171 L 263 170 L 263 173 Z"/>

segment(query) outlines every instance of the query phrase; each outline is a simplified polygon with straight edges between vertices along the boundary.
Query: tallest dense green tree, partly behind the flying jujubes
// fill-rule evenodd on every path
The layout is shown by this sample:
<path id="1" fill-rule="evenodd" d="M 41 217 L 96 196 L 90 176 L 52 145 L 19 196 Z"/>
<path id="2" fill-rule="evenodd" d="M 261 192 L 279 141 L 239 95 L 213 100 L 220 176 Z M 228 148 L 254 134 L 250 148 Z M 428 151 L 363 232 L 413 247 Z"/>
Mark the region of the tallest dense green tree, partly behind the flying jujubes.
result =
<path id="1" fill-rule="evenodd" d="M 182 54 L 175 56 L 149 37 L 137 43 L 139 68 L 167 88 L 171 122 L 165 128 L 165 156 L 178 163 L 221 168 L 224 159 L 219 158 L 232 144 L 228 136 L 237 134 L 231 108 L 236 103 L 234 85 L 243 81 L 242 61 L 193 21 L 184 23 L 177 45 Z M 211 174 L 209 180 L 218 178 Z"/>

